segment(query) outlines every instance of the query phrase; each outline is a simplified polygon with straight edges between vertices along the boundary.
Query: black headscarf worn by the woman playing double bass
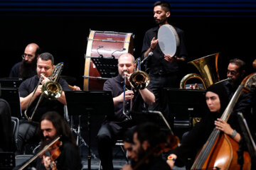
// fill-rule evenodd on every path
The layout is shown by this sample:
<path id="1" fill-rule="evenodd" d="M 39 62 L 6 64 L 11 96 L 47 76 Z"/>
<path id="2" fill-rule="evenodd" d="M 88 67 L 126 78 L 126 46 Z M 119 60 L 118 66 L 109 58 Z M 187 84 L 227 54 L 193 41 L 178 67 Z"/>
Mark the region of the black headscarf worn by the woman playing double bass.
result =
<path id="1" fill-rule="evenodd" d="M 225 111 L 225 108 L 228 106 L 228 92 L 225 90 L 225 86 L 223 84 L 213 84 L 208 87 L 207 91 L 211 91 L 215 94 L 218 94 L 220 98 L 220 114 Z"/>

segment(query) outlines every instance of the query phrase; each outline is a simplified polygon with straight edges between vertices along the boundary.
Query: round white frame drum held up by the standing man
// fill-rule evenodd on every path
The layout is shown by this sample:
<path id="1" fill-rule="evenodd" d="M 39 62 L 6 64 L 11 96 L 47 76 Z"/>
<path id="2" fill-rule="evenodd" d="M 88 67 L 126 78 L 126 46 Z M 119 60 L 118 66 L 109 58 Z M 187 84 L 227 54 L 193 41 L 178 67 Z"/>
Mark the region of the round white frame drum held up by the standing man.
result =
<path id="1" fill-rule="evenodd" d="M 174 56 L 179 45 L 178 33 L 173 26 L 166 24 L 159 28 L 158 40 L 164 55 Z"/>

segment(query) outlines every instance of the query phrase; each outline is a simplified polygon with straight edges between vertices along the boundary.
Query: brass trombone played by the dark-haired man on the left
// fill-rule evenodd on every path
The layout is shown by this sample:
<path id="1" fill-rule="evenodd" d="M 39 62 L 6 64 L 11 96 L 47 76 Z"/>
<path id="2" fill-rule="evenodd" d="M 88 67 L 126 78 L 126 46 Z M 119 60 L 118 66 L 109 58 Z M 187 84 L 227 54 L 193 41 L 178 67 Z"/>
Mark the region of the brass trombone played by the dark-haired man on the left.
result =
<path id="1" fill-rule="evenodd" d="M 42 83 L 42 77 L 40 77 L 38 84 L 33 91 L 31 99 L 28 102 L 28 106 L 26 107 L 26 110 L 24 111 L 24 115 L 29 121 L 32 120 L 33 115 L 36 113 L 36 109 L 38 108 L 38 105 L 41 102 L 43 96 L 48 98 L 49 100 L 57 100 L 61 96 L 63 89 L 60 86 L 60 84 L 58 84 L 57 81 L 60 77 L 60 73 L 62 72 L 63 65 L 64 65 L 63 62 L 60 62 L 59 64 L 55 65 L 55 67 L 53 69 L 53 73 L 50 75 L 50 77 L 48 77 L 48 79 L 50 79 L 50 81 L 47 81 L 46 83 L 44 83 L 41 88 L 42 94 L 41 94 L 40 98 L 38 99 L 38 103 L 36 103 L 36 108 L 33 110 L 31 117 L 28 117 L 27 111 L 28 111 L 29 106 L 31 105 L 32 98 L 36 94 L 36 89 L 38 88 L 38 85 Z"/>

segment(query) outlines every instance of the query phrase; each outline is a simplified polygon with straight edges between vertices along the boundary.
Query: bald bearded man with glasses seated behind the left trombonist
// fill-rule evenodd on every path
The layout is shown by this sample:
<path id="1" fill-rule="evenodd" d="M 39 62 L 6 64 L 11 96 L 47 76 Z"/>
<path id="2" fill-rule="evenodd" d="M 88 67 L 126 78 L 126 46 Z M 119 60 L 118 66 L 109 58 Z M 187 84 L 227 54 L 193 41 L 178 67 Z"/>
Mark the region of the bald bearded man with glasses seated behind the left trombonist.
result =
<path id="1" fill-rule="evenodd" d="M 9 77 L 20 77 L 23 80 L 36 75 L 36 59 L 40 55 L 40 47 L 36 43 L 28 44 L 24 54 L 21 55 L 22 61 L 14 64 L 11 68 Z"/>

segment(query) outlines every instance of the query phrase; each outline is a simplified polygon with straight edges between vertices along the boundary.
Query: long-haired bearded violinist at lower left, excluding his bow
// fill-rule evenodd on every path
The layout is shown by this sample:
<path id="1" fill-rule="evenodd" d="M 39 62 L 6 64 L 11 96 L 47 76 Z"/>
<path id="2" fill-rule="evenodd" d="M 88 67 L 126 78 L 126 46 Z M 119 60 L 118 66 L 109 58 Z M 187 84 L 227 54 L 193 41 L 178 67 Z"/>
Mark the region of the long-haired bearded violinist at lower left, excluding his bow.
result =
<path id="1" fill-rule="evenodd" d="M 47 154 L 41 155 L 36 169 L 49 169 L 51 166 L 55 166 L 59 170 L 82 168 L 78 146 L 75 144 L 68 123 L 60 114 L 54 111 L 44 114 L 40 121 L 38 133 L 42 142 L 41 149 L 58 136 L 61 136 L 61 145 L 59 149 L 55 149 L 55 152 L 49 149 L 50 157 Z"/>

